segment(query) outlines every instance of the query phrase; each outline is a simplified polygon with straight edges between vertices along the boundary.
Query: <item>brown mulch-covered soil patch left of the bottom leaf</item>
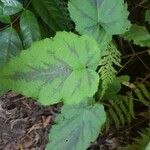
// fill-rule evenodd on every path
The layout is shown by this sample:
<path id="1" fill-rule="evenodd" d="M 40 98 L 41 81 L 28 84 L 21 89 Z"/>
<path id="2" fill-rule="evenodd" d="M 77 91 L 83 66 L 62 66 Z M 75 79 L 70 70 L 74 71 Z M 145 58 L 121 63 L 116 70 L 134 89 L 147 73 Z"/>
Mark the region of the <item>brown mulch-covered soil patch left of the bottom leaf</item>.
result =
<path id="1" fill-rule="evenodd" d="M 0 98 L 0 150 L 43 150 L 58 107 L 12 92 Z"/>

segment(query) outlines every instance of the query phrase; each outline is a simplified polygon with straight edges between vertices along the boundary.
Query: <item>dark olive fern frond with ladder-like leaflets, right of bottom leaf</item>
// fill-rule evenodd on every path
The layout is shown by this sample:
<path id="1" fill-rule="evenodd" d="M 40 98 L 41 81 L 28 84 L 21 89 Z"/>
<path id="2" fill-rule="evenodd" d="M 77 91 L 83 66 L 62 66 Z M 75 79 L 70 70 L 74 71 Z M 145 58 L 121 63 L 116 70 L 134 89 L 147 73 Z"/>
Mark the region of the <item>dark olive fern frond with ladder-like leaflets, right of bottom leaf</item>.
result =
<path id="1" fill-rule="evenodd" d="M 120 128 L 126 123 L 130 124 L 136 118 L 135 101 L 142 103 L 144 106 L 150 106 L 150 92 L 146 85 L 137 84 L 137 86 L 133 87 L 128 95 L 116 94 L 116 101 L 109 101 L 108 115 L 112 118 L 116 128 Z"/>

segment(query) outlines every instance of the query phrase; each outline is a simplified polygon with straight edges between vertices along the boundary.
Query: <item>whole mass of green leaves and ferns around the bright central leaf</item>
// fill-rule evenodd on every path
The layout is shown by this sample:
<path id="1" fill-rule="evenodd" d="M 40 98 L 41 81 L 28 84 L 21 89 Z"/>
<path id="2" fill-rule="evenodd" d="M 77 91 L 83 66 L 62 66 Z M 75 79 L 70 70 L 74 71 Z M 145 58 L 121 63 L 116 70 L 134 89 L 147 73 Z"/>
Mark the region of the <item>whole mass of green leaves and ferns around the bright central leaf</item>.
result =
<path id="1" fill-rule="evenodd" d="M 106 104 L 109 122 L 117 128 L 136 117 L 135 101 L 150 105 L 150 91 L 143 84 L 131 88 L 128 95 L 118 94 L 121 84 L 126 85 L 129 79 L 116 78 L 115 67 L 121 66 L 121 54 L 112 36 L 130 28 L 127 4 L 123 0 L 67 2 L 31 0 L 27 10 L 17 0 L 0 1 L 0 21 L 11 26 L 0 32 L 0 94 L 5 88 L 43 105 L 64 103 L 50 132 L 47 150 L 86 150 L 96 140 L 106 120 L 103 105 L 93 102 L 98 86 L 99 102 Z M 73 29 L 67 4 L 81 35 L 63 31 L 54 38 L 38 41 L 56 31 Z M 149 11 L 145 18 L 149 22 Z M 122 36 L 134 44 L 150 47 L 150 34 L 145 27 L 132 25 Z M 33 41 L 38 42 L 32 45 Z M 17 55 L 22 47 L 26 50 Z"/>

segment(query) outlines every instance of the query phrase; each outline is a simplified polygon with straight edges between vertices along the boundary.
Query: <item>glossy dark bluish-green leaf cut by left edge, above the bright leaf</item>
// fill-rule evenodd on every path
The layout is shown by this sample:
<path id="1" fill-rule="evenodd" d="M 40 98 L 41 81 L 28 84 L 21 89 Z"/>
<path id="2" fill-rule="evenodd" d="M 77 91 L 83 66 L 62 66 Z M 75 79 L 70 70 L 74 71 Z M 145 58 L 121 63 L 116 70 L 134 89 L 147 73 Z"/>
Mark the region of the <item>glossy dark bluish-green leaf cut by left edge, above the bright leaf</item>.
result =
<path id="1" fill-rule="evenodd" d="M 0 67 L 20 50 L 22 50 L 22 43 L 13 28 L 10 27 L 0 32 Z"/>

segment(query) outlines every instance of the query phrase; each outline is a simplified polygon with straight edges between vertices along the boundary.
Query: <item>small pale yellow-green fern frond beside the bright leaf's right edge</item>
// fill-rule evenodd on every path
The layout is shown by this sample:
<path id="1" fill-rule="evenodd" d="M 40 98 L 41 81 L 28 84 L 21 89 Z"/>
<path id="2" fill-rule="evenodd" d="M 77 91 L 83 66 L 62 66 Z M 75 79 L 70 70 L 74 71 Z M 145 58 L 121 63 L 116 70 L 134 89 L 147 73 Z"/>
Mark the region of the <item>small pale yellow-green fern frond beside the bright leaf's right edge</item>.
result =
<path id="1" fill-rule="evenodd" d="M 121 54 L 117 49 L 116 45 L 111 42 L 108 44 L 108 48 L 105 51 L 103 58 L 100 61 L 100 79 L 102 80 L 102 92 L 101 98 L 104 96 L 106 90 L 108 89 L 109 85 L 114 81 L 116 78 L 116 70 L 113 65 L 121 66 Z"/>

